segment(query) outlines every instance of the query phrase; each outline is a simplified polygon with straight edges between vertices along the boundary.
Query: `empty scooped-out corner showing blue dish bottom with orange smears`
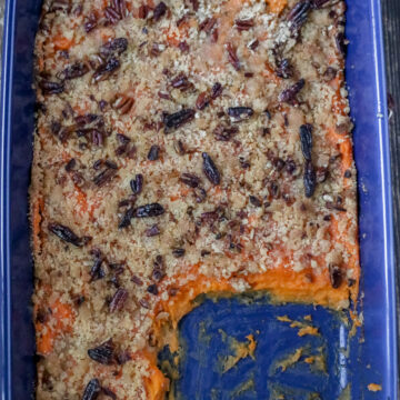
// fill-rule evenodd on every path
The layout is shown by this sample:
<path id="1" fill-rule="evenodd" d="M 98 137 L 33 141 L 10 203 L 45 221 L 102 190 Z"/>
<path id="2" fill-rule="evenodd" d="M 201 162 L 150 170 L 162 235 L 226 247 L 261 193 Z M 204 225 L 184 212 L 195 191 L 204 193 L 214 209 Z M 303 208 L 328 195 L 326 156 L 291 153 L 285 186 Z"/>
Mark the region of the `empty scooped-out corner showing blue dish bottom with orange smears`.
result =
<path id="1" fill-rule="evenodd" d="M 202 297 L 179 323 L 179 350 L 159 368 L 169 399 L 360 399 L 352 320 L 266 293 Z"/>

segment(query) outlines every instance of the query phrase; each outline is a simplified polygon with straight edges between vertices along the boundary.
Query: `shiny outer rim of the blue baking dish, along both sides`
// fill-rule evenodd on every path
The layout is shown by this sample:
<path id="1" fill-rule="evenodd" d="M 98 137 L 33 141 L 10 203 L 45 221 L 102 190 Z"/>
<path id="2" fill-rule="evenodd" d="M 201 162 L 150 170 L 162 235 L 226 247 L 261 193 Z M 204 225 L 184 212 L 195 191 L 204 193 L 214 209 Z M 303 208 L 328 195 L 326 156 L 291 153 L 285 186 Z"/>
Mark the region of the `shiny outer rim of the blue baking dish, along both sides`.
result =
<path id="1" fill-rule="evenodd" d="M 384 47 L 381 4 L 379 0 L 369 0 L 373 23 L 373 60 L 377 81 L 379 152 L 381 156 L 380 177 L 382 183 L 381 203 L 383 209 L 384 268 L 382 274 L 386 283 L 384 321 L 387 327 L 387 360 L 390 371 L 389 392 L 398 398 L 398 330 L 397 330 L 397 294 L 396 260 L 393 239 L 393 211 L 391 194 L 390 143 L 387 107 L 387 82 L 384 70 Z M 12 334 L 11 334 L 11 273 L 10 273 L 10 154 L 12 128 L 12 89 L 14 64 L 14 30 L 17 1 L 6 1 L 4 30 L 2 50 L 2 79 L 0 93 L 0 399 L 12 399 Z M 389 377 L 388 377 L 389 378 Z"/>

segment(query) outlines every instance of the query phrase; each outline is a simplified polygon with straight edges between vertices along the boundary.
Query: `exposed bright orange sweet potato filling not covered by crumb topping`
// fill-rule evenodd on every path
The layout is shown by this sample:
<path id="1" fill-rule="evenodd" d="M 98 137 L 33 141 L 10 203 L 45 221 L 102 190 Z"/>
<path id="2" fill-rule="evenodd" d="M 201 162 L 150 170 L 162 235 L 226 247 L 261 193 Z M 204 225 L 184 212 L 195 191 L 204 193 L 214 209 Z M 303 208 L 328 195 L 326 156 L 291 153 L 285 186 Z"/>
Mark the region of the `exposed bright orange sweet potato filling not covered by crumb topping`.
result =
<path id="1" fill-rule="evenodd" d="M 222 58 L 224 53 L 224 44 L 227 32 L 229 27 L 232 26 L 237 10 L 240 9 L 241 3 L 246 0 L 230 0 L 226 6 L 223 12 L 218 16 L 219 23 L 219 37 L 216 43 L 213 43 L 212 49 L 207 49 L 209 51 L 210 57 L 212 57 L 217 62 L 223 66 Z M 269 6 L 269 10 L 273 13 L 281 13 L 284 8 L 288 6 L 287 0 L 266 0 Z M 107 7 L 108 1 L 104 0 L 103 7 Z M 149 6 L 153 6 L 152 1 L 148 1 Z M 133 10 L 133 13 L 137 13 L 138 10 Z M 179 46 L 179 43 L 184 40 L 188 34 L 188 29 L 196 23 L 193 20 L 187 20 L 179 27 L 179 34 L 177 33 L 167 33 L 168 42 L 174 47 Z M 103 33 L 104 36 L 106 33 Z M 107 37 L 103 37 L 107 39 Z M 74 42 L 73 40 L 69 40 L 62 36 L 57 36 L 51 39 L 54 50 L 67 50 L 71 48 Z M 39 60 L 39 69 L 43 68 L 42 60 Z M 280 78 L 277 77 L 274 71 L 266 66 L 263 74 L 267 76 L 270 80 L 278 82 Z M 343 74 L 339 73 L 336 79 L 330 82 L 331 87 L 336 89 L 337 94 L 333 98 L 332 103 L 332 112 L 338 114 L 346 114 L 343 98 L 341 96 L 340 88 L 343 86 Z M 77 110 L 81 112 L 87 107 L 84 103 L 81 110 Z M 353 162 L 352 157 L 352 143 L 350 139 L 343 139 L 343 136 L 338 134 L 333 129 L 327 128 L 327 138 L 331 140 L 332 143 L 339 144 L 339 151 L 341 153 L 341 169 L 344 172 L 349 169 Z M 348 179 L 343 178 L 343 187 L 348 187 Z M 218 196 L 218 190 L 220 188 L 213 189 Z M 181 192 L 178 192 L 172 201 L 178 200 L 188 194 L 189 190 L 182 188 Z M 89 207 L 87 194 L 79 188 L 76 187 L 72 196 L 76 198 L 77 206 L 79 212 L 81 214 L 88 213 L 91 218 L 93 217 L 93 211 L 96 209 L 96 202 Z M 41 224 L 41 213 L 44 208 L 44 201 L 42 198 L 36 199 L 32 207 L 32 229 L 33 229 L 33 249 L 38 251 L 40 249 L 40 224 Z M 340 219 L 348 219 L 346 214 L 338 217 Z M 313 274 L 310 269 L 304 269 L 302 271 L 296 272 L 287 266 L 278 264 L 274 269 L 267 270 L 262 273 L 257 274 L 248 274 L 242 278 L 248 282 L 251 290 L 254 291 L 268 291 L 272 298 L 280 302 L 310 302 L 318 306 L 324 306 L 330 308 L 338 308 L 342 301 L 348 300 L 349 298 L 356 303 L 359 292 L 359 248 L 358 246 L 352 246 L 348 243 L 346 237 L 341 236 L 338 230 L 339 220 L 332 218 L 331 220 L 331 240 L 343 243 L 350 253 L 350 259 L 348 260 L 347 268 L 353 269 L 354 276 L 357 278 L 357 282 L 351 287 L 347 287 L 342 284 L 340 288 L 334 289 L 331 286 L 329 273 L 324 274 Z M 349 221 L 350 222 L 350 221 Z M 241 256 L 246 258 L 244 256 Z M 323 260 L 319 260 L 323 262 Z M 187 276 L 188 273 L 194 274 L 197 278 L 194 281 L 191 281 L 184 286 L 179 287 L 179 291 L 176 296 L 170 297 L 169 300 L 159 299 L 158 306 L 150 317 L 153 319 L 153 333 L 159 343 L 169 344 L 171 350 L 174 351 L 178 348 L 178 336 L 177 329 L 178 323 L 187 313 L 189 313 L 196 304 L 193 300 L 203 293 L 234 293 L 236 290 L 230 283 L 228 279 L 212 279 L 199 273 L 199 264 L 191 266 L 188 268 L 182 276 L 173 277 L 172 281 L 179 282 L 181 278 Z M 168 290 L 169 288 L 160 289 Z M 53 348 L 54 340 L 66 333 L 71 331 L 74 316 L 72 308 L 69 304 L 62 303 L 60 300 L 57 300 L 53 304 L 50 304 L 51 316 L 49 320 L 46 322 L 36 322 L 37 329 L 37 349 L 39 353 L 48 354 L 51 352 Z M 169 320 L 159 320 L 156 317 L 160 312 L 168 312 L 170 316 Z M 354 313 L 351 311 L 351 314 Z M 166 337 L 166 326 L 172 327 L 172 333 Z M 251 346 L 254 348 L 256 343 L 252 339 Z M 169 380 L 163 376 L 160 369 L 157 367 L 157 349 L 156 350 L 143 350 L 142 352 L 136 354 L 137 358 L 146 359 L 149 363 L 148 372 L 149 376 L 144 378 L 144 387 L 150 400 L 162 400 L 164 394 L 169 389 Z M 372 384 L 371 384 L 372 387 Z M 378 386 L 377 386 L 378 387 Z M 376 388 L 372 388 L 376 389 Z M 372 390 L 371 389 L 371 390 Z"/>

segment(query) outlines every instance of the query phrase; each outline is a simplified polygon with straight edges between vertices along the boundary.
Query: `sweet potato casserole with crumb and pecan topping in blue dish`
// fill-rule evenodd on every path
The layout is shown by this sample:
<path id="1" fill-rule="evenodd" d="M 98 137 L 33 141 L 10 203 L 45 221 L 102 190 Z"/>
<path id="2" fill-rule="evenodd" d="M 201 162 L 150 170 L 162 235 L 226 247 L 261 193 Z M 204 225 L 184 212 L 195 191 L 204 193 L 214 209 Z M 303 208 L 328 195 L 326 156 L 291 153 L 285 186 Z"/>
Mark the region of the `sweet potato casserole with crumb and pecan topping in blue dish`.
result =
<path id="1" fill-rule="evenodd" d="M 357 299 L 344 11 L 44 0 L 30 193 L 38 399 L 162 399 L 157 351 L 177 346 L 202 292 Z"/>

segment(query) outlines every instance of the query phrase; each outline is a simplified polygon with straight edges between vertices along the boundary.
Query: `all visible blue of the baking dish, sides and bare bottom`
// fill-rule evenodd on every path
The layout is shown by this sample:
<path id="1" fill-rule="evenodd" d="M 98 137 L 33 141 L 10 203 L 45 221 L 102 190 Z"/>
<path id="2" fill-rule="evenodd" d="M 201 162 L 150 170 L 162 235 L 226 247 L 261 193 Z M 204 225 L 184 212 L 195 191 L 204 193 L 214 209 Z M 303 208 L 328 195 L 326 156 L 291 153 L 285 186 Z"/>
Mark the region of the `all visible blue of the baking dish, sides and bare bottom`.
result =
<path id="1" fill-rule="evenodd" d="M 354 119 L 359 172 L 359 212 L 363 324 L 354 337 L 342 316 L 307 304 L 273 306 L 267 297 L 204 300 L 180 324 L 181 378 L 174 390 L 190 399 L 338 399 L 344 389 L 353 400 L 397 400 L 398 357 L 393 226 L 381 10 L 379 0 L 348 2 L 347 82 Z M 31 89 L 33 40 L 41 0 L 7 0 L 1 86 L 0 142 L 0 393 L 2 400 L 33 396 L 33 288 L 29 247 L 28 187 L 34 129 Z M 277 316 L 311 314 L 321 336 L 300 338 Z M 231 342 L 257 341 L 254 359 L 246 357 L 221 372 Z M 326 372 L 304 366 L 283 370 L 276 360 L 303 347 L 326 349 Z M 211 351 L 210 351 L 211 349 Z M 343 351 L 341 351 L 343 350 Z M 344 351 L 346 350 L 346 351 Z M 160 360 L 170 357 L 168 349 Z M 160 361 L 161 362 L 161 361 Z M 371 392 L 369 383 L 381 384 Z"/>

